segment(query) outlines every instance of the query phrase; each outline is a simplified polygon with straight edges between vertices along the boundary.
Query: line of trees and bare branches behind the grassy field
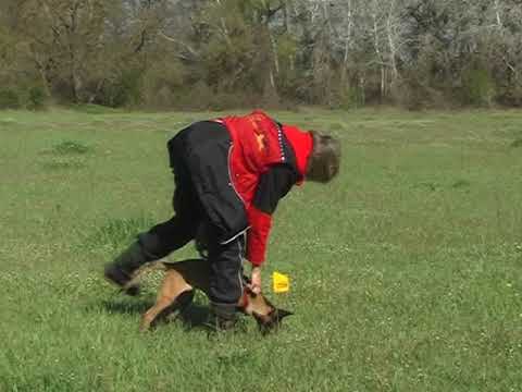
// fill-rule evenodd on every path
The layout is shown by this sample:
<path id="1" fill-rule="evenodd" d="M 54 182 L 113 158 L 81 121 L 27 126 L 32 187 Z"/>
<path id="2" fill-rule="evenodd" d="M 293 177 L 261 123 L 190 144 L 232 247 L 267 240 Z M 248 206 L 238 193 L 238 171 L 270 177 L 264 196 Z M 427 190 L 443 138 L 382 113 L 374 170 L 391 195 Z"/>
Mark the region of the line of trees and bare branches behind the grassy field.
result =
<path id="1" fill-rule="evenodd" d="M 522 0 L 0 0 L 0 108 L 522 105 Z"/>

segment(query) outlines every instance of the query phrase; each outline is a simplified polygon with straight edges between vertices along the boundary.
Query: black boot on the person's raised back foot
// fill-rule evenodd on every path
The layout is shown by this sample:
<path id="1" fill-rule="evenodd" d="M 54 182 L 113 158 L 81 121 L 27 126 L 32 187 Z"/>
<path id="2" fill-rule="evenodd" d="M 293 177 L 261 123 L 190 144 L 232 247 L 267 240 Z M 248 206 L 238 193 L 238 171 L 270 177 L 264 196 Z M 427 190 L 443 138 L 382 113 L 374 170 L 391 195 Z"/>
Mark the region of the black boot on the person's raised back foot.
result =
<path id="1" fill-rule="evenodd" d="M 104 268 L 104 277 L 111 283 L 122 287 L 126 294 L 136 295 L 139 292 L 138 284 L 132 284 L 134 273 L 146 262 L 157 260 L 158 257 L 147 253 L 139 241 L 132 244 L 114 261 Z"/>

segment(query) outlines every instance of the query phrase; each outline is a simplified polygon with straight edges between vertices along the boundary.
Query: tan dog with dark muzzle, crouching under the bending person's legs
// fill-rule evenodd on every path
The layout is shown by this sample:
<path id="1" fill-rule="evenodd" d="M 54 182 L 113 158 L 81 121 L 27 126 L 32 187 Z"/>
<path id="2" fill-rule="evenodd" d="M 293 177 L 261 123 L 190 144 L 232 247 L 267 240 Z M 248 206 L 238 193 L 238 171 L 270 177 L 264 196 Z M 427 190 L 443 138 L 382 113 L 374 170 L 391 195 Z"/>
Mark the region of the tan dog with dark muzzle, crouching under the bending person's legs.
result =
<path id="1" fill-rule="evenodd" d="M 159 265 L 165 270 L 165 274 L 156 304 L 141 317 L 141 331 L 149 330 L 174 311 L 183 313 L 192 302 L 195 289 L 201 290 L 207 295 L 209 292 L 209 260 L 187 259 L 178 262 L 159 262 Z M 244 277 L 244 292 L 237 303 L 237 309 L 253 316 L 261 333 L 265 334 L 277 329 L 283 318 L 291 315 L 290 311 L 277 309 L 263 294 L 252 293 L 248 289 L 246 277 Z M 132 284 L 135 283 L 130 282 Z"/>

